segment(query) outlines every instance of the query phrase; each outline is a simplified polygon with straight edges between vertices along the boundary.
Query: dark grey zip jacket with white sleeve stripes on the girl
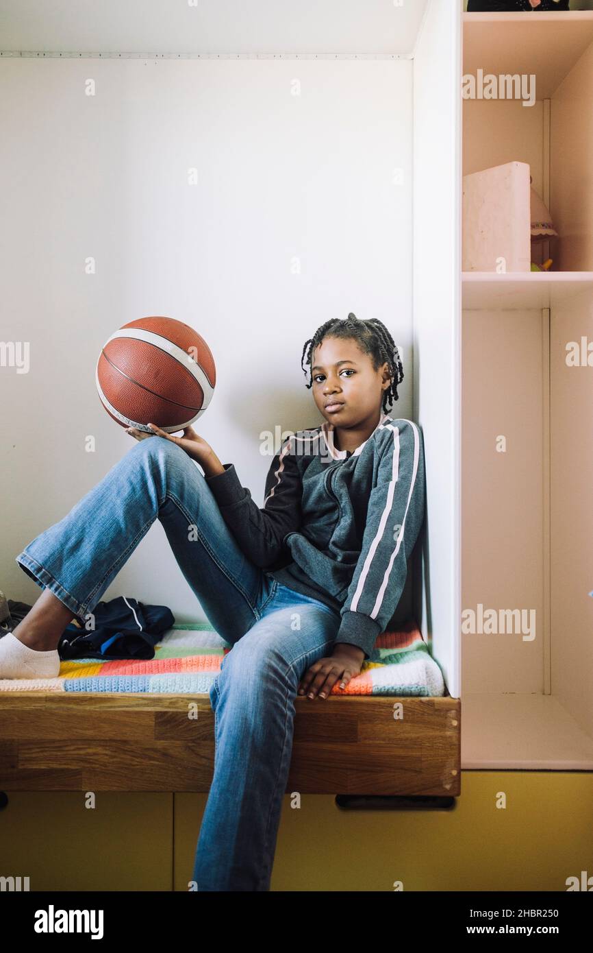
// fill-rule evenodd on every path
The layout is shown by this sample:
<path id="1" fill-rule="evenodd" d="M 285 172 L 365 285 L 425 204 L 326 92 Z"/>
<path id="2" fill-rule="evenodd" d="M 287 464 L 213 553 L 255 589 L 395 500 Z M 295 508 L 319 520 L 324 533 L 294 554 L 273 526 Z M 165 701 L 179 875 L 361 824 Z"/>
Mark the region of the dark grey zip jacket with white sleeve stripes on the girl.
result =
<path id="1" fill-rule="evenodd" d="M 208 486 L 247 558 L 289 589 L 338 610 L 336 642 L 368 659 L 402 596 L 425 517 L 425 454 L 417 424 L 382 414 L 354 451 L 333 424 L 297 431 L 274 456 L 263 508 L 234 464 Z"/>

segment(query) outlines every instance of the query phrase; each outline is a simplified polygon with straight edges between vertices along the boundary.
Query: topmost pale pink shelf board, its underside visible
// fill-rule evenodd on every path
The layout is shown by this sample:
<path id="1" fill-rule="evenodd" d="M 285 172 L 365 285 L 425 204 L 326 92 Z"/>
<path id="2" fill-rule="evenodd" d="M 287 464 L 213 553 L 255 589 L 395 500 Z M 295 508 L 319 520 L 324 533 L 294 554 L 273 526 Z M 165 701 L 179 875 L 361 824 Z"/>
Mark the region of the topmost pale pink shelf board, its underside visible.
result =
<path id="1" fill-rule="evenodd" d="M 464 73 L 534 73 L 549 99 L 593 42 L 593 10 L 464 13 L 463 28 Z"/>

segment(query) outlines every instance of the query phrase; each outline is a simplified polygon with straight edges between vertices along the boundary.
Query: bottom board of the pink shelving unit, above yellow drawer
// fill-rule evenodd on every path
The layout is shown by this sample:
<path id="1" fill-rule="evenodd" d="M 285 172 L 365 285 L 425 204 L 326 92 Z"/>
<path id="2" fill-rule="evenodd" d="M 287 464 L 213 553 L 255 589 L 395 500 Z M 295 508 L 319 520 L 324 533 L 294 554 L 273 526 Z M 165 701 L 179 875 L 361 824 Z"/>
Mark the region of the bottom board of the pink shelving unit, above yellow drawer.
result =
<path id="1" fill-rule="evenodd" d="M 462 770 L 593 770 L 593 738 L 553 695 L 462 695 Z"/>

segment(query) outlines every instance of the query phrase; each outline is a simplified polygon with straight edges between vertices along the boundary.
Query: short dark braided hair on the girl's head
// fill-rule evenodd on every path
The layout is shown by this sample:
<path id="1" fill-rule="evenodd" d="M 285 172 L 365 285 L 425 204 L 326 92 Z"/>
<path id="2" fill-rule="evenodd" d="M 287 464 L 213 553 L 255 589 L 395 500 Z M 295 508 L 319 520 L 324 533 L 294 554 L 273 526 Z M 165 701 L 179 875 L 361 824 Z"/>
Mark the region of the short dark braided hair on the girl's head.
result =
<path id="1" fill-rule="evenodd" d="M 391 408 L 395 400 L 399 400 L 397 388 L 398 384 L 401 384 L 404 380 L 404 368 L 397 345 L 385 328 L 385 324 L 378 317 L 370 317 L 361 321 L 352 312 L 345 319 L 330 318 L 305 342 L 301 357 L 301 368 L 306 375 L 306 368 L 303 366 L 306 356 L 306 364 L 309 366 L 309 382 L 305 385 L 306 387 L 313 386 L 313 378 L 310 372 L 312 355 L 315 348 L 321 344 L 325 337 L 353 337 L 361 351 L 370 356 L 375 371 L 378 371 L 386 362 L 391 383 L 385 389 L 383 395 L 382 408 L 384 412 Z M 307 345 L 308 351 L 306 350 Z M 389 408 L 387 408 L 387 404 L 389 404 Z"/>

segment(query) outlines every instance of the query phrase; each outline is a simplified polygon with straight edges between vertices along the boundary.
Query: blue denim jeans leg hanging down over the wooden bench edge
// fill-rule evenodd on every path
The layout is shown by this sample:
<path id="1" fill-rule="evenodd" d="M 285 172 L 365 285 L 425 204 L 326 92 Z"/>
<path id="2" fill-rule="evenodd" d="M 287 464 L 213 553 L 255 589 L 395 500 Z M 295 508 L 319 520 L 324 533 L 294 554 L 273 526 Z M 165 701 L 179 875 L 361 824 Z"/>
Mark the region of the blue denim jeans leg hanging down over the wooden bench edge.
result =
<path id="1" fill-rule="evenodd" d="M 264 618 L 225 657 L 210 694 L 216 757 L 194 862 L 198 891 L 269 889 L 298 684 L 331 654 L 339 624 L 339 613 L 279 585 Z"/>

